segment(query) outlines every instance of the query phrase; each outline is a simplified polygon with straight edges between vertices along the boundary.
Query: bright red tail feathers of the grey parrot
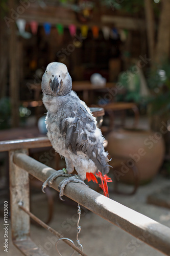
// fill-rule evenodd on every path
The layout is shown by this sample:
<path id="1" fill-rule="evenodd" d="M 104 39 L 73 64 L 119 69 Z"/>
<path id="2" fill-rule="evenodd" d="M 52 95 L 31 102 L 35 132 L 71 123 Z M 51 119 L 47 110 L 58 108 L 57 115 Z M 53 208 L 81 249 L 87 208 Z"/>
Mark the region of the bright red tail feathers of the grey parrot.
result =
<path id="1" fill-rule="evenodd" d="M 93 182 L 98 183 L 98 180 L 96 179 L 95 176 L 100 177 L 101 184 L 99 186 L 102 188 L 104 195 L 106 197 L 109 197 L 109 190 L 108 190 L 107 182 L 112 182 L 111 178 L 109 178 L 106 174 L 103 176 L 99 170 L 98 170 L 98 172 L 96 172 L 95 175 L 92 173 L 86 173 L 86 179 L 88 182 L 92 180 Z"/>

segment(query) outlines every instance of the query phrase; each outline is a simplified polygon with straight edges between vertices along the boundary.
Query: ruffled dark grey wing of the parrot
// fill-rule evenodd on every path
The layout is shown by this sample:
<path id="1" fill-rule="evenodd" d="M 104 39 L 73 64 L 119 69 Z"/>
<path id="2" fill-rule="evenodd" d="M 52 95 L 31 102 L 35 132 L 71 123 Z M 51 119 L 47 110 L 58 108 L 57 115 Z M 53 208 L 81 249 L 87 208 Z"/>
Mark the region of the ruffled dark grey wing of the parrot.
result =
<path id="1" fill-rule="evenodd" d="M 67 150 L 75 155 L 78 152 L 84 153 L 103 175 L 109 172 L 109 159 L 104 151 L 103 136 L 96 130 L 93 116 L 81 102 L 66 103 L 61 114 L 60 133 L 65 138 Z"/>

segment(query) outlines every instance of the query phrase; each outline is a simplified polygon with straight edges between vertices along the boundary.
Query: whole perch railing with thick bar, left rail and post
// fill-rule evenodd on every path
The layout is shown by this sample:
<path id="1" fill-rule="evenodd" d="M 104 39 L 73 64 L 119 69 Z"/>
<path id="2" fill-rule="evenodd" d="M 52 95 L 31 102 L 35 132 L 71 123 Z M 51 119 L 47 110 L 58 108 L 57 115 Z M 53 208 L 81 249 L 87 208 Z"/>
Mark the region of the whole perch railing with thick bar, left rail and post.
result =
<path id="1" fill-rule="evenodd" d="M 0 142 L 0 152 L 9 151 L 12 240 L 25 255 L 31 255 L 34 252 L 37 256 L 47 256 L 30 239 L 30 216 L 32 214 L 29 205 L 29 174 L 44 182 L 56 170 L 29 157 L 28 148 L 50 145 L 46 137 Z M 63 177 L 57 178 L 52 187 L 59 191 L 58 185 L 63 179 Z M 170 255 L 170 228 L 79 183 L 67 184 L 64 195 L 142 242 L 165 255 Z M 78 248 L 76 250 L 81 255 L 86 255 Z"/>

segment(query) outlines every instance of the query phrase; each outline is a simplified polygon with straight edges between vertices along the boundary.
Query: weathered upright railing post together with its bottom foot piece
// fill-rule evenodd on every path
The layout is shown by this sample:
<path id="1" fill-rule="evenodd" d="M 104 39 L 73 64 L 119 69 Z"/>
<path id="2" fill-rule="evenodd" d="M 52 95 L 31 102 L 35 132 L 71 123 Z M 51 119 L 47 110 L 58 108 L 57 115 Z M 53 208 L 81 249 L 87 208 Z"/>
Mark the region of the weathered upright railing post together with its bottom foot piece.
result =
<path id="1" fill-rule="evenodd" d="M 28 150 L 17 152 L 28 154 Z M 9 152 L 12 241 L 23 255 L 48 256 L 31 240 L 30 216 L 18 207 L 21 203 L 26 210 L 30 210 L 29 174 L 13 163 L 15 153 L 16 151 Z"/>

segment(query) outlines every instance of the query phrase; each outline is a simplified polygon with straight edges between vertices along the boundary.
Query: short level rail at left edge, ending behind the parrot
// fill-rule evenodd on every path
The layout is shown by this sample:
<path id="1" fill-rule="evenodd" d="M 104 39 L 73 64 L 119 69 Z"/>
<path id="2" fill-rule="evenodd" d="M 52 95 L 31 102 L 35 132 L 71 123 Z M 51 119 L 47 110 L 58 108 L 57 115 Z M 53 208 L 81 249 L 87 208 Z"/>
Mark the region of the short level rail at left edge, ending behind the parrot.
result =
<path id="1" fill-rule="evenodd" d="M 51 146 L 50 140 L 47 137 L 19 139 L 19 140 L 5 140 L 0 141 L 0 152 L 19 150 L 20 148 L 37 148 Z"/>

